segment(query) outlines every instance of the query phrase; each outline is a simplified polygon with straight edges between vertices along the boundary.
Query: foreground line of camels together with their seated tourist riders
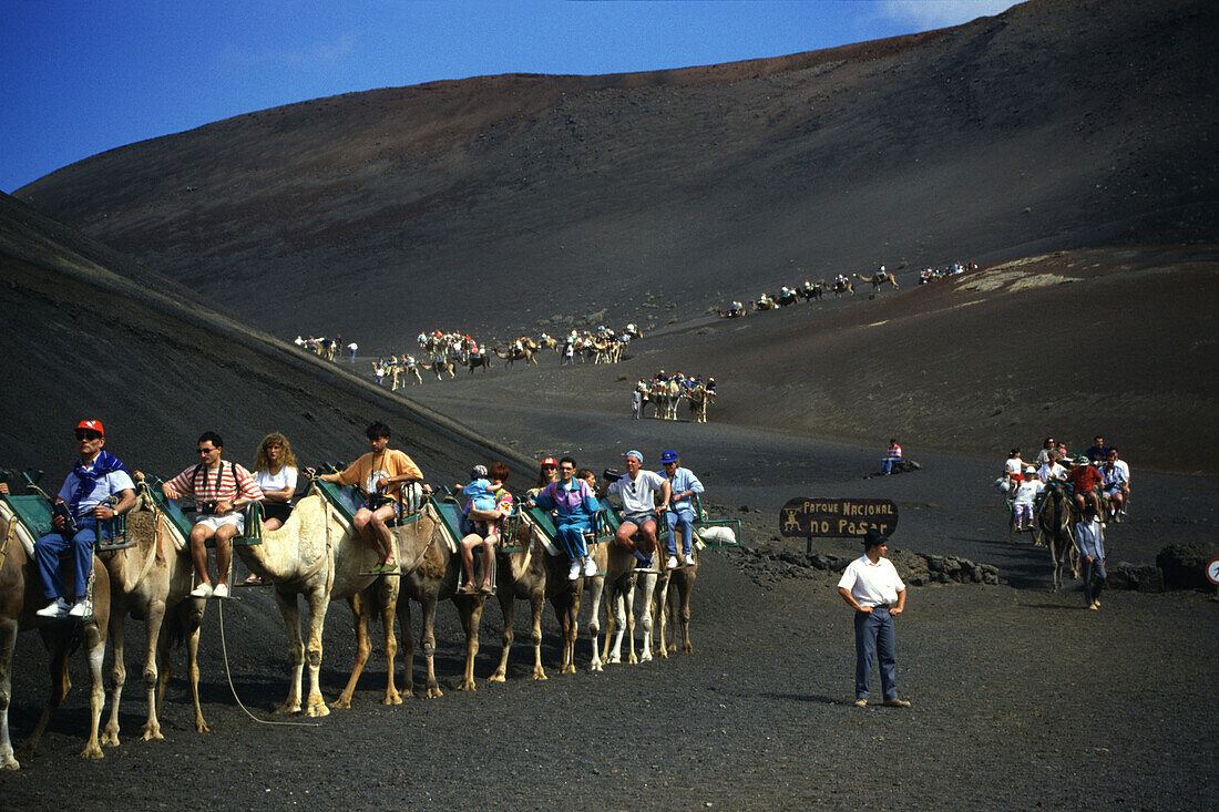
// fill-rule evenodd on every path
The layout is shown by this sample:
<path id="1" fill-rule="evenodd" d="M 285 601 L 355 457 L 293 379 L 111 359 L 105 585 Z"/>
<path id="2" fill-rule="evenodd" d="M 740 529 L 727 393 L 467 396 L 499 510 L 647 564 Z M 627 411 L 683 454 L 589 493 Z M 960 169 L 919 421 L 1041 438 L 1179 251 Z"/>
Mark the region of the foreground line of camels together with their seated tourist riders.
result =
<path id="1" fill-rule="evenodd" d="M 530 490 L 524 500 L 514 501 L 502 488 L 507 467 L 496 463 L 491 471 L 502 472 L 495 484 L 500 510 L 485 513 L 474 497 L 485 482 L 472 480 L 464 486 L 469 500 L 463 506 L 447 489 L 424 484 L 413 461 L 388 447 L 388 427 L 374 423 L 368 436 L 371 451 L 346 468 L 297 469 L 286 438 L 271 434 L 260 445 L 251 473 L 223 460 L 223 441 L 205 433 L 200 438 L 202 462 L 162 482 L 129 473 L 108 452 L 101 456 L 101 424 L 84 421 L 77 430 L 80 461 L 59 495 L 44 491 L 38 477 L 28 473 L 23 486 L 0 483 L 0 768 L 20 767 L 9 739 L 7 710 L 16 636 L 26 630 L 40 632 L 50 649 L 51 694 L 26 741 L 23 757 L 33 755 L 68 694 L 68 656 L 74 641 L 85 652 L 90 674 L 89 735 L 80 755 L 101 758 L 102 747 L 119 746 L 128 618 L 141 621 L 144 629 L 138 660 L 146 702 L 141 738 L 163 738 L 160 719 L 177 644 L 187 649 L 195 729 L 207 733 L 199 700 L 200 625 L 210 602 L 219 604 L 217 611 L 223 614 L 223 602 L 234 600 L 230 589 L 236 586 L 269 589 L 284 621 L 290 671 L 285 699 L 275 713 L 322 717 L 350 707 L 371 654 L 373 619 L 382 622 L 389 663 L 382 702 L 394 705 L 412 696 L 412 602 L 421 607 L 419 647 L 427 673 L 423 694 L 428 697 L 442 695 L 434 668 L 434 621 L 441 602 L 456 607 L 464 636 L 458 690 L 477 689 L 480 623 L 485 601 L 492 596 L 500 604 L 503 635 L 497 666 L 488 677 L 491 682 L 508 677 L 517 600 L 529 602 L 534 679 L 546 679 L 541 656 L 546 602 L 555 610 L 563 639 L 560 673 L 575 672 L 581 635 L 589 639 L 588 667 L 592 671 L 606 663 L 667 657 L 677 650 L 677 638 L 683 651 L 692 652 L 690 593 L 698 551 L 705 540 L 739 544 L 740 522 L 708 519 L 695 497 L 692 507 L 683 508 L 692 518 L 674 525 L 677 534 L 667 541 L 663 527 L 655 536 L 636 532 L 622 512 L 625 496 L 618 507 L 596 495 L 589 502 L 591 518 L 578 535 L 581 552 L 577 561 L 564 506 L 553 499 L 546 504 L 547 493 L 560 493 L 557 484 L 549 491 Z M 574 462 L 568 462 L 564 457 L 560 474 L 553 465 L 549 467 L 550 482 L 570 478 Z M 545 465 L 542 471 L 547 471 Z M 485 474 L 482 466 L 474 473 L 479 472 Z M 630 458 L 628 472 L 640 475 Z M 591 472 L 583 473 L 594 482 Z M 656 479 L 656 474 L 642 474 Z M 594 486 L 581 486 L 591 496 Z M 608 471 L 606 490 L 619 491 Z M 655 501 L 650 504 L 659 508 L 658 525 L 664 524 L 669 494 L 666 485 L 663 500 L 661 491 L 651 497 Z M 673 502 L 678 504 L 677 496 Z M 488 543 L 492 535 L 497 539 L 494 546 Z M 646 560 L 640 554 L 645 543 L 656 547 Z M 673 556 L 662 561 L 659 546 L 666 543 L 679 552 L 685 547 L 684 562 Z M 216 554 L 215 577 L 210 547 Z M 234 583 L 234 557 L 250 573 L 240 584 Z M 319 673 L 324 623 L 335 600 L 345 600 L 351 610 L 357 645 L 347 683 L 328 703 Z M 583 627 L 581 601 L 591 607 Z M 307 610 L 304 628 L 302 602 Z M 402 630 L 402 671 L 395 619 Z M 642 632 L 638 647 L 636 625 Z M 228 634 L 232 644 L 241 633 L 230 627 Z M 113 649 L 111 712 L 102 728 L 107 640 Z"/>

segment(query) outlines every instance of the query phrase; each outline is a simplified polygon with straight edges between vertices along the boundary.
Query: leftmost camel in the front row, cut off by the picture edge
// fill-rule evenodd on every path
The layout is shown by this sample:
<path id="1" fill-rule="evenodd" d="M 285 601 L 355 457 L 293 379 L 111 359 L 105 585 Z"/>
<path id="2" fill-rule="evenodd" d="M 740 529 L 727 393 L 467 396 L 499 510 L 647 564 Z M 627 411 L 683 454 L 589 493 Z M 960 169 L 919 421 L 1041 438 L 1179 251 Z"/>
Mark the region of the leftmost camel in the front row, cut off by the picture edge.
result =
<path id="1" fill-rule="evenodd" d="M 12 652 L 21 632 L 38 629 L 51 650 L 51 695 L 38 724 L 22 747 L 22 757 L 33 756 L 46 725 L 72 688 L 68 678 L 68 654 L 78 636 L 89 660 L 89 740 L 80 756 L 101 758 L 98 728 L 106 699 L 102 660 L 106 655 L 106 628 L 110 622 L 110 579 L 93 577 L 93 617 L 80 622 L 43 621 L 34 612 L 43 596 L 33 561 L 34 539 L 16 519 L 7 504 L 0 502 L 0 769 L 18 769 L 21 763 L 9 739 L 9 706 L 12 701 Z M 102 573 L 101 561 L 93 558 L 94 573 Z M 27 595 L 28 590 L 28 595 Z"/>

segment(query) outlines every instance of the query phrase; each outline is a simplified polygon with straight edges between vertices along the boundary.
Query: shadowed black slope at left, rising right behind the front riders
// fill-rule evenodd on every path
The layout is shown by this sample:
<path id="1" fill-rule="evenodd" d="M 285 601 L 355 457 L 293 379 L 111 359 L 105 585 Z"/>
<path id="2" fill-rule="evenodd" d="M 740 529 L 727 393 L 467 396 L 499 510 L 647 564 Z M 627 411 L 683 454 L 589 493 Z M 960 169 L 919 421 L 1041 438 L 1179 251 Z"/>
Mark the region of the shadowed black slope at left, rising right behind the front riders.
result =
<path id="1" fill-rule="evenodd" d="M 367 450 L 383 419 L 424 473 L 457 477 L 511 452 L 362 383 L 334 365 L 217 317 L 129 258 L 0 195 L 0 466 L 48 468 L 74 454 L 71 430 L 100 418 L 130 467 L 176 473 L 200 432 L 246 465 L 266 432 L 306 462 Z"/>

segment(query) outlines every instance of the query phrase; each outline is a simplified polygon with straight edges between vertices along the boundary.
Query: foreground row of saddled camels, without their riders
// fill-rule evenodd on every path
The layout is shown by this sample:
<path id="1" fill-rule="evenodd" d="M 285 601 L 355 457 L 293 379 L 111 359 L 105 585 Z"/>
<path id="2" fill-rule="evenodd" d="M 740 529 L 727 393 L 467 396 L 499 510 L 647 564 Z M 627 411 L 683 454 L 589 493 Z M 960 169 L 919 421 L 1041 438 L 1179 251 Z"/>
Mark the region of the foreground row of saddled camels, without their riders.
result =
<path id="1" fill-rule="evenodd" d="M 197 586 L 189 557 L 188 538 L 191 521 L 173 500 L 165 499 L 155 478 L 143 478 L 138 485 L 135 507 L 122 519 L 122 544 L 99 545 L 89 578 L 90 611 L 82 619 L 44 619 L 34 613 L 41 605 L 38 594 L 33 550 L 34 540 L 50 532 L 51 501 L 30 480 L 27 495 L 0 494 L 0 768 L 17 769 L 20 762 L 9 739 L 7 712 L 11 705 L 12 657 L 20 632 L 39 630 L 51 651 L 51 695 L 22 750 L 33 755 L 46 725 L 68 694 L 68 655 L 73 640 L 79 640 L 89 662 L 90 727 L 82 751 L 85 758 L 101 758 L 102 746 L 119 745 L 118 706 L 126 683 L 124 623 L 128 617 L 144 621 L 141 647 L 147 717 L 143 739 L 161 739 L 160 718 L 171 673 L 171 654 L 178 643 L 187 649 L 187 673 L 195 712 L 195 729 L 208 732 L 199 700 L 200 623 L 207 599 L 193 597 Z M 479 650 L 479 627 L 486 595 L 473 593 L 462 584 L 462 566 L 457 554 L 462 538 L 461 510 L 452 497 L 424 494 L 418 483 L 403 493 L 407 506 L 394 528 L 399 572 L 375 572 L 377 554 L 360 539 L 352 524 L 362 497 L 352 488 L 313 478 L 288 521 L 268 530 L 260 521 L 257 502 L 247 516 L 245 536 L 233 540 L 236 557 L 269 585 L 284 619 L 288 660 L 291 663 L 286 697 L 277 713 L 302 712 L 310 717 L 327 716 L 332 708 L 347 708 L 371 654 L 369 621 L 382 621 L 383 645 L 388 667 L 382 702 L 400 703 L 413 694 L 413 636 L 411 602 L 422 608 L 419 633 L 424 655 L 428 697 L 441 696 L 434 669 L 434 621 L 438 605 L 451 601 L 457 608 L 466 638 L 466 660 L 458 690 L 475 690 L 474 660 Z M 697 577 L 697 561 L 677 569 L 636 571 L 635 558 L 610 544 L 620 516 L 618 508 L 602 500 L 597 532 L 589 538 L 590 556 L 596 574 L 569 580 L 567 561 L 558 554 L 550 515 L 538 508 L 514 513 L 506 523 L 505 544 L 495 556 L 495 588 L 503 617 L 502 652 L 497 667 L 488 678 L 507 678 L 508 655 L 513 643 L 513 606 L 517 600 L 530 605 L 530 641 L 534 647 L 534 679 L 546 679 L 541 658 L 541 612 L 550 602 L 563 638 L 560 673 L 574 673 L 577 643 L 581 633 L 590 639 L 589 668 L 601 671 L 605 663 L 634 663 L 653 656 L 667 657 L 680 647 L 692 652 L 690 641 L 690 594 Z M 735 533 L 733 533 L 735 525 Z M 708 519 L 698 506 L 695 549 L 709 544 L 739 544 L 740 523 L 734 519 Z M 580 627 L 580 608 L 588 590 L 591 616 Z M 300 604 L 308 610 L 306 630 L 301 632 Z M 346 600 L 356 632 L 356 658 L 347 683 L 339 696 L 327 705 L 319 684 L 323 627 L 329 605 Z M 639 606 L 636 619 L 635 607 Z M 602 623 L 605 606 L 605 623 Z M 401 690 L 397 674 L 397 639 L 394 621 L 399 621 L 403 643 Z M 636 652 L 635 628 L 642 628 Z M 675 632 L 674 632 L 675 629 Z M 605 632 L 602 636 L 602 630 Z M 106 641 L 115 647 L 111 671 L 111 716 L 99 730 L 105 703 L 102 664 Z M 623 643 L 627 652 L 623 655 Z M 308 675 L 307 685 L 305 675 Z"/>

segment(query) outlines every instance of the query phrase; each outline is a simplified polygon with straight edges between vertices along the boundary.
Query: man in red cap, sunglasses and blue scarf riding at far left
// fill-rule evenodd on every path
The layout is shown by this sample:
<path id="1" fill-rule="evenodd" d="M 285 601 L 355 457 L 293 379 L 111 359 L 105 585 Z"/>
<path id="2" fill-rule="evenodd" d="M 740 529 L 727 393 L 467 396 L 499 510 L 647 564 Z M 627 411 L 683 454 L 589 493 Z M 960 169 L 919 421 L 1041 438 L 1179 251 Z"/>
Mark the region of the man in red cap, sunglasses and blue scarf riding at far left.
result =
<path id="1" fill-rule="evenodd" d="M 80 458 L 55 500 L 55 532 L 34 543 L 43 597 L 50 601 L 38 610 L 40 617 L 85 616 L 93 545 L 111 536 L 111 519 L 135 506 L 130 474 L 118 457 L 102 450 L 106 432 L 101 421 L 80 421 L 76 439 Z M 62 577 L 68 573 L 71 580 Z"/>

